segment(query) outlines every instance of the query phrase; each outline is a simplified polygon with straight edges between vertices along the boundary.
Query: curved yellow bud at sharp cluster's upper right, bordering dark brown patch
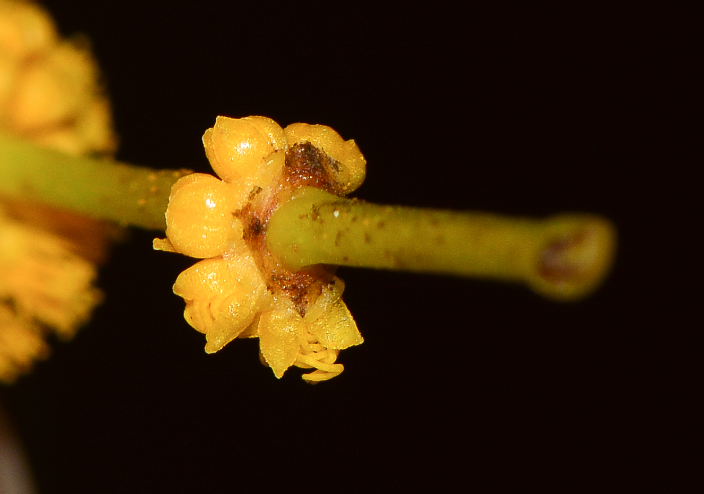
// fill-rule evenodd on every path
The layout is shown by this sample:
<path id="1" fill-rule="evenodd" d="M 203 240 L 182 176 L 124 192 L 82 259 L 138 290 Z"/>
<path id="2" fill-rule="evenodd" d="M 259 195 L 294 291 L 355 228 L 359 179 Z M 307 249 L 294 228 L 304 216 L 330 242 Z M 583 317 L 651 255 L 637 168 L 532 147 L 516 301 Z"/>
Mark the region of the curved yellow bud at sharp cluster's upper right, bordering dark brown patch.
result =
<path id="1" fill-rule="evenodd" d="M 364 182 L 367 161 L 353 139 L 345 141 L 340 134 L 327 125 L 291 124 L 284 129 L 290 146 L 310 142 L 337 161 L 340 169 L 333 177 L 344 194 L 354 191 Z"/>

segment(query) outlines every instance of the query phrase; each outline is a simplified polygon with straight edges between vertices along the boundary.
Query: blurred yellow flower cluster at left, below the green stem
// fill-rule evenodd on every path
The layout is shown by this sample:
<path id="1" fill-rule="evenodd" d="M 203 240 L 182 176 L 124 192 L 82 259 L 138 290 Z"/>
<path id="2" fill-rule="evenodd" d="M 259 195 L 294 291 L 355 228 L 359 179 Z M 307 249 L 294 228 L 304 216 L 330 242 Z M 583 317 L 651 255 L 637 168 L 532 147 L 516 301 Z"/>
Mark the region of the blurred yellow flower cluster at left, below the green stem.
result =
<path id="1" fill-rule="evenodd" d="M 49 354 L 44 327 L 71 338 L 102 299 L 95 266 L 60 236 L 5 215 L 0 207 L 0 382 Z"/>

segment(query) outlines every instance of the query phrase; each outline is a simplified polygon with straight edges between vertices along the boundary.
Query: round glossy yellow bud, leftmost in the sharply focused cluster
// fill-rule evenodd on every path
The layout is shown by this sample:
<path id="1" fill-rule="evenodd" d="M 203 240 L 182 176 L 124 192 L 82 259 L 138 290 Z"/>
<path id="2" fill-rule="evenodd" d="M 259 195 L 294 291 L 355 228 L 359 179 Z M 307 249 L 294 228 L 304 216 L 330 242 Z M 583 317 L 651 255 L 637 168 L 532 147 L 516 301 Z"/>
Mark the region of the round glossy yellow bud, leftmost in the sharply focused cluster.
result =
<path id="1" fill-rule="evenodd" d="M 166 209 L 166 236 L 177 251 L 192 258 L 213 258 L 242 239 L 242 224 L 234 217 L 241 198 L 230 187 L 203 173 L 174 184 Z"/>

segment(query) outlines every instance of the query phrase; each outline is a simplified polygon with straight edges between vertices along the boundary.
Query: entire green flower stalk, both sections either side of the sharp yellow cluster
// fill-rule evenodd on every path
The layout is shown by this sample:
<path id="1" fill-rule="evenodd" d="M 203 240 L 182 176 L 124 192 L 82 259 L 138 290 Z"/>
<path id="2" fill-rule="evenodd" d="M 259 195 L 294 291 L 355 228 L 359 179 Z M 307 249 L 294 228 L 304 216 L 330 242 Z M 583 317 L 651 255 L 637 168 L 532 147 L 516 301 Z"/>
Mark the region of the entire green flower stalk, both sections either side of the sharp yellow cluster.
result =
<path id="1" fill-rule="evenodd" d="M 163 230 L 171 186 L 187 173 L 66 156 L 0 133 L 0 195 L 124 226 Z M 556 300 L 596 289 L 615 239 L 612 224 L 596 215 L 539 220 L 405 208 L 309 187 L 280 205 L 267 227 L 268 248 L 292 270 L 330 264 L 501 279 Z"/>

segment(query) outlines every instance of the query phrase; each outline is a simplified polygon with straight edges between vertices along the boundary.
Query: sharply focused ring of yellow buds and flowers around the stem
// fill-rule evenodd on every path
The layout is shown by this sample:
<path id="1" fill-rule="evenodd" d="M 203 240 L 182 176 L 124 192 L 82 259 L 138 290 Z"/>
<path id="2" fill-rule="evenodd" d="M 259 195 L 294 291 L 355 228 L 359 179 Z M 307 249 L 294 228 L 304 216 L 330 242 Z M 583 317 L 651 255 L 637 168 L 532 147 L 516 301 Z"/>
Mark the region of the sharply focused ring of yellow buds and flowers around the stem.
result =
<path id="1" fill-rule="evenodd" d="M 202 258 L 182 272 L 174 293 L 184 317 L 206 334 L 206 352 L 234 338 L 258 337 L 263 362 L 281 377 L 291 365 L 313 368 L 308 381 L 342 372 L 339 350 L 362 343 L 330 267 L 291 272 L 266 248 L 277 205 L 303 186 L 338 196 L 356 189 L 365 160 L 354 141 L 323 125 L 282 129 L 265 117 L 218 117 L 203 135 L 212 175 L 193 174 L 171 190 L 167 239 L 154 248 Z"/>

